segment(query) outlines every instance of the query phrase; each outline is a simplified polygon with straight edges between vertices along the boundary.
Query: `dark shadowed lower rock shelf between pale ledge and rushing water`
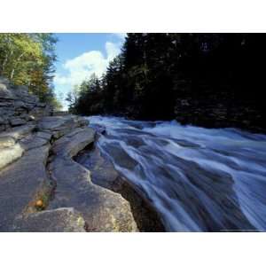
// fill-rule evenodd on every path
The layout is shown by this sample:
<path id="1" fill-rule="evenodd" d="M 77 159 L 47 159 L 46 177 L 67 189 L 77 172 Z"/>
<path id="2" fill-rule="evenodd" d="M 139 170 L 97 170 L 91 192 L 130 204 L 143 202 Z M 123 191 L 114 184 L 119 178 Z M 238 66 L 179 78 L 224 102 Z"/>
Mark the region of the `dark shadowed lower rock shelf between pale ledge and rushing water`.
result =
<path id="1" fill-rule="evenodd" d="M 134 185 L 129 184 L 114 168 L 110 160 L 101 154 L 97 145 L 90 145 L 79 153 L 74 160 L 90 169 L 90 178 L 94 184 L 121 194 L 129 201 L 132 215 L 139 231 L 165 231 L 160 217 L 144 199 L 135 191 Z"/>

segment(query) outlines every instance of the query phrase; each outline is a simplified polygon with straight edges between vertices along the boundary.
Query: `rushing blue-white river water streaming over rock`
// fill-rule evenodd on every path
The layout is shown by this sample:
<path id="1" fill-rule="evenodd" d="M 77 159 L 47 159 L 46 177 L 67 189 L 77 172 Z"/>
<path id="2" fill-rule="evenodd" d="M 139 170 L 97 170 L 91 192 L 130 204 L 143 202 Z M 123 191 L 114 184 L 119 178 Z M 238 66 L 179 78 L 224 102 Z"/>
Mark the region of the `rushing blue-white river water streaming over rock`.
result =
<path id="1" fill-rule="evenodd" d="M 176 121 L 89 120 L 102 132 L 102 153 L 167 231 L 266 230 L 265 135 Z"/>

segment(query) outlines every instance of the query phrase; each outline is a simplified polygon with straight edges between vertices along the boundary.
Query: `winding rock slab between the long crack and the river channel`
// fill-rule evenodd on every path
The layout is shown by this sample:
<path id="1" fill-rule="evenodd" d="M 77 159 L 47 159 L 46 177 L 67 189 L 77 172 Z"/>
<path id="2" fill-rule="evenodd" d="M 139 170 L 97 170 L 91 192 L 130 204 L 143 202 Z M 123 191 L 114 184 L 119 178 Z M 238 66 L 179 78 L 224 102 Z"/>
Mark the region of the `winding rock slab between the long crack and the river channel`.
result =
<path id="1" fill-rule="evenodd" d="M 51 178 L 56 181 L 49 208 L 72 206 L 83 216 L 87 231 L 137 231 L 129 202 L 90 180 L 90 171 L 72 157 L 94 141 L 94 129 L 76 129 L 52 148 Z M 67 174 L 66 174 L 67 173 Z"/>

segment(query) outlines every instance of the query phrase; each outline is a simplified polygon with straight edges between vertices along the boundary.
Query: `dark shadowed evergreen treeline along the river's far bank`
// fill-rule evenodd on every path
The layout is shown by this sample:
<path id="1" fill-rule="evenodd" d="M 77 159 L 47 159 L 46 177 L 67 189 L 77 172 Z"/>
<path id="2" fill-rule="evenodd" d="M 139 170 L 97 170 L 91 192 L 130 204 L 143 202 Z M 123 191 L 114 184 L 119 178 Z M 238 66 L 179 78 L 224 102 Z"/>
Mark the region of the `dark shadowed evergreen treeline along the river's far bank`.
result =
<path id="1" fill-rule="evenodd" d="M 68 95 L 85 115 L 264 128 L 266 35 L 128 34 L 106 74 Z"/>

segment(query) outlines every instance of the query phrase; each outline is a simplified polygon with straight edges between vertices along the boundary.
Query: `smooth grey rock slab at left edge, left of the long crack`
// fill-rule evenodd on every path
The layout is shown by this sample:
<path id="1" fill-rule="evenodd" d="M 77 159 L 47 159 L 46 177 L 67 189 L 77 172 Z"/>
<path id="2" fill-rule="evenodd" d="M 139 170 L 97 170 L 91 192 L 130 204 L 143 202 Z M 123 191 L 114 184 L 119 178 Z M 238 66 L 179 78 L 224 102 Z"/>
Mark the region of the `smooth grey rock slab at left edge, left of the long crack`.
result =
<path id="1" fill-rule="evenodd" d="M 24 215 L 47 180 L 45 163 L 49 145 L 24 153 L 0 172 L 0 231 L 12 231 L 16 217 Z"/>

